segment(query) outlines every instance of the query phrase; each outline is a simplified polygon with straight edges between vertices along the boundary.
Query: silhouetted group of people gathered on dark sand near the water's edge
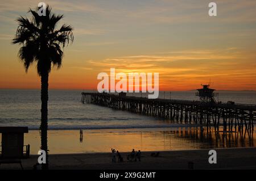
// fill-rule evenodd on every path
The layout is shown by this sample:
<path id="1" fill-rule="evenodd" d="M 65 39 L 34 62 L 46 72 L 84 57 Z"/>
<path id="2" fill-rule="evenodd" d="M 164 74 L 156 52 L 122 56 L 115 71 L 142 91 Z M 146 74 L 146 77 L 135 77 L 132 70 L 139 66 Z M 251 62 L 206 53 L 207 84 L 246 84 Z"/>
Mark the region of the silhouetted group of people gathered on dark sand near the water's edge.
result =
<path id="1" fill-rule="evenodd" d="M 115 163 L 117 162 L 123 162 L 123 157 L 121 156 L 121 154 L 119 153 L 119 151 L 115 151 L 115 149 L 111 149 L 112 151 L 112 162 Z M 127 160 L 132 162 L 132 161 L 141 161 L 141 150 L 135 151 L 134 149 L 131 151 L 131 153 L 129 155 L 127 155 Z"/>

